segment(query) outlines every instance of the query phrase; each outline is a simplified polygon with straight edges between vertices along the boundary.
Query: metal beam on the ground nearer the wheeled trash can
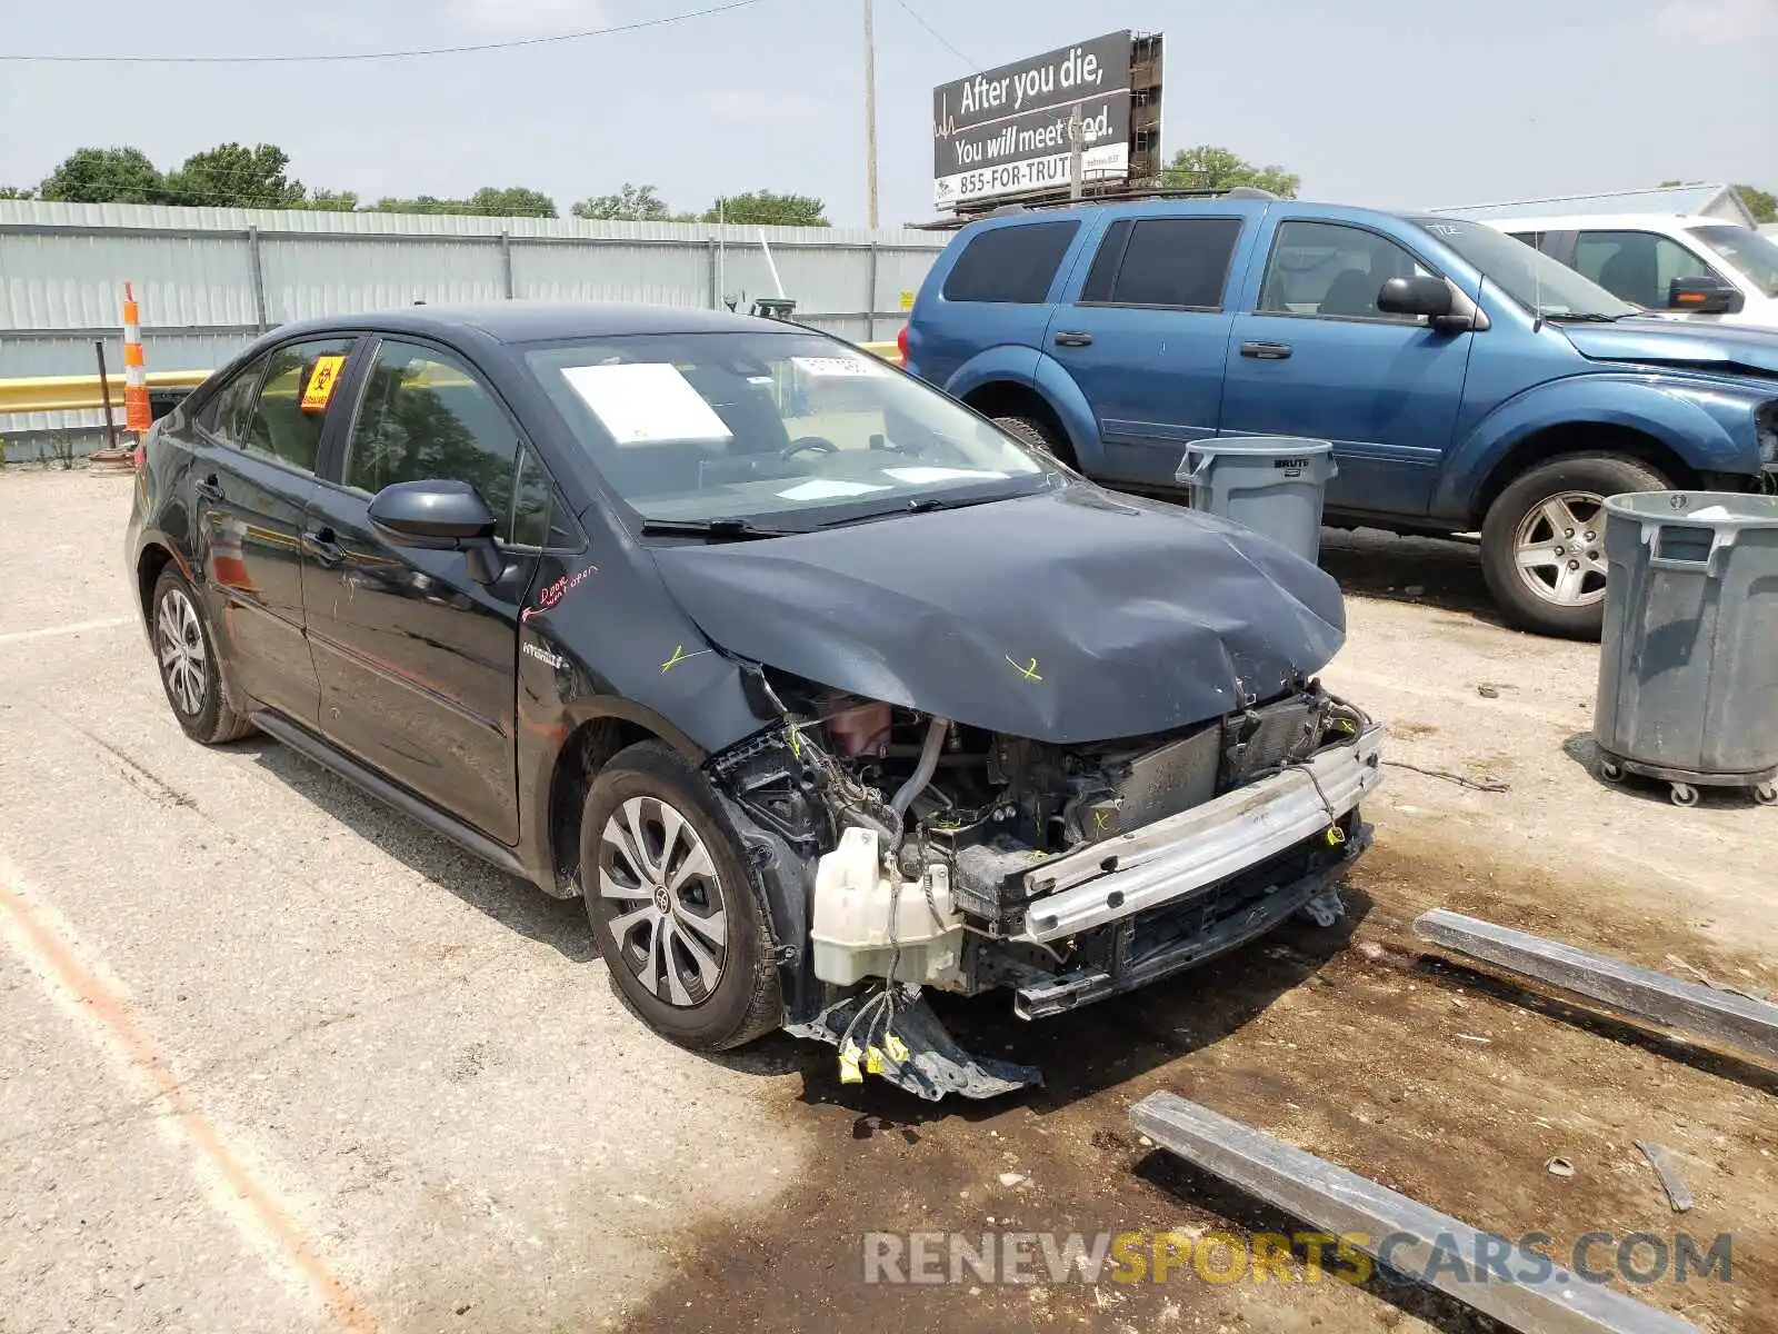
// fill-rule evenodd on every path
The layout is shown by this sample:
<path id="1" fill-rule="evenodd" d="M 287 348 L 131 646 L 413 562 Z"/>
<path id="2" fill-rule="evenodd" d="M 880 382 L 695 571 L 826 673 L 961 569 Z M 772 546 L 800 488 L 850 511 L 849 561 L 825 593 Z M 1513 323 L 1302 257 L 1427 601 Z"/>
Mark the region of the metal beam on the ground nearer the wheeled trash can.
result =
<path id="1" fill-rule="evenodd" d="M 1636 1019 L 1654 1019 L 1778 1064 L 1778 1005 L 1444 909 L 1415 918 L 1414 934 Z"/>

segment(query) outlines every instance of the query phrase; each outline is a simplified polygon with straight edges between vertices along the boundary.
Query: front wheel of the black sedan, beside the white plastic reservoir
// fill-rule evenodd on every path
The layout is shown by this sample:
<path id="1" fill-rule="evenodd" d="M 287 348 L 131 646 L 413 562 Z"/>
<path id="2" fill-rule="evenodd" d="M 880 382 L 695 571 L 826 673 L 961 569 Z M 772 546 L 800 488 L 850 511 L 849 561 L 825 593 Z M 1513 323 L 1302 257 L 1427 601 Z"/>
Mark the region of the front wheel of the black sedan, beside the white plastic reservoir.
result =
<path id="1" fill-rule="evenodd" d="M 640 742 L 599 770 L 581 806 L 580 866 L 599 955 L 649 1028 L 725 1051 L 782 1023 L 772 932 L 740 840 L 677 752 Z"/>

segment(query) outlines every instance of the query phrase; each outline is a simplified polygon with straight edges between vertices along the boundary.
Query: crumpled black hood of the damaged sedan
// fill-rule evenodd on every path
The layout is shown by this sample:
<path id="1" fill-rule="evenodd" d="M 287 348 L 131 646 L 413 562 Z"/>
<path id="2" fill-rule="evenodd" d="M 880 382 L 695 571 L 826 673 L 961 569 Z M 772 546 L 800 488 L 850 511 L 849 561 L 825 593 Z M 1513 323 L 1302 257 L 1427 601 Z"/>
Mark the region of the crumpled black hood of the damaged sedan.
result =
<path id="1" fill-rule="evenodd" d="M 1232 523 L 1085 484 L 653 555 L 736 656 L 1056 745 L 1268 699 L 1346 637 L 1339 587 L 1316 566 Z"/>

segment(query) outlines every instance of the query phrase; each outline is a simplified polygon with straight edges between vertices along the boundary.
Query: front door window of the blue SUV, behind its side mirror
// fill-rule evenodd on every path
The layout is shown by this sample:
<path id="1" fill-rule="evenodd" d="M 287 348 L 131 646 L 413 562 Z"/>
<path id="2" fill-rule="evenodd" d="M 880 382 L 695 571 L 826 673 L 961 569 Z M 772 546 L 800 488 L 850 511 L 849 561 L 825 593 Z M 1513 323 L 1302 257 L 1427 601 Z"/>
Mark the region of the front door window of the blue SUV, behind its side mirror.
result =
<path id="1" fill-rule="evenodd" d="M 1376 293 L 1390 277 L 1430 276 L 1408 251 L 1374 231 L 1344 222 L 1284 222 L 1266 261 L 1259 309 L 1415 324 L 1417 315 L 1380 311 Z"/>

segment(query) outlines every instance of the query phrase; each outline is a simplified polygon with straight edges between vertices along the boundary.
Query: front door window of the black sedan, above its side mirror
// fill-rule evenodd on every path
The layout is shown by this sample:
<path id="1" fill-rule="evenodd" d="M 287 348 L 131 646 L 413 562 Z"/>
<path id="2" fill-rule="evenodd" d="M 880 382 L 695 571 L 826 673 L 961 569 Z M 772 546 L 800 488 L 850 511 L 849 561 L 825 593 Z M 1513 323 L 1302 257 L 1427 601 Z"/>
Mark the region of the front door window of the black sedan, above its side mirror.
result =
<path id="1" fill-rule="evenodd" d="M 482 493 L 512 537 L 519 432 L 482 377 L 450 352 L 386 338 L 352 423 L 345 484 L 377 494 L 395 482 L 450 478 Z"/>

